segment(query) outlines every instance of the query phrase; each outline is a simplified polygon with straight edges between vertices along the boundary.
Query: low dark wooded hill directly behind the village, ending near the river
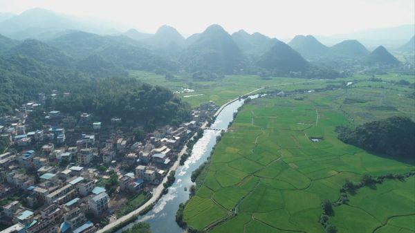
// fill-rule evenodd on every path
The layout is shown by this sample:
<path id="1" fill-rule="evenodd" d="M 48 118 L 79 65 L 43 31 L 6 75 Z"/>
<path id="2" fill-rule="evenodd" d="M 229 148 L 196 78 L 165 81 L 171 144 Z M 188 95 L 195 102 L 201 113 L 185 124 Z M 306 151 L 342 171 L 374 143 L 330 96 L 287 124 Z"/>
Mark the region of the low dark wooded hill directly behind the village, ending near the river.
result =
<path id="1" fill-rule="evenodd" d="M 116 116 L 142 124 L 148 130 L 163 124 L 190 120 L 190 105 L 167 88 L 142 84 L 127 78 L 89 80 L 65 88 L 69 96 L 48 103 L 66 113 L 93 113 L 102 121 Z M 121 114 L 121 115 L 120 115 Z"/>

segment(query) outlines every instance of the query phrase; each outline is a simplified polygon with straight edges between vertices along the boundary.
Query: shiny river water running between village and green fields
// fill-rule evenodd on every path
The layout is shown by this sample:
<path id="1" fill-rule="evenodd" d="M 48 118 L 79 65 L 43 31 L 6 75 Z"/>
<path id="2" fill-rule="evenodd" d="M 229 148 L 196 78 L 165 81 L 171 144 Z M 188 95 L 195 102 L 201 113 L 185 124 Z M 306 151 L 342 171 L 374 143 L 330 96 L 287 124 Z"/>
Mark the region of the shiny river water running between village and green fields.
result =
<path id="1" fill-rule="evenodd" d="M 258 97 L 252 95 L 250 98 Z M 217 115 L 212 129 L 227 129 L 228 124 L 233 119 L 233 114 L 237 112 L 239 106 L 242 106 L 243 100 L 237 100 L 225 106 Z M 200 138 L 192 149 L 191 156 L 186 160 L 185 164 L 178 167 L 176 171 L 176 181 L 169 187 L 169 192 L 162 196 L 156 203 L 154 208 L 140 216 L 137 221 L 122 227 L 117 233 L 127 230 L 133 224 L 139 221 L 146 221 L 151 225 L 152 233 L 182 233 L 183 229 L 176 223 L 176 212 L 180 203 L 185 203 L 189 199 L 190 186 L 193 184 L 190 180 L 192 171 L 199 167 L 210 156 L 212 148 L 216 144 L 216 136 L 219 136 L 221 131 L 205 129 L 203 137 Z M 187 191 L 185 191 L 187 187 Z"/>

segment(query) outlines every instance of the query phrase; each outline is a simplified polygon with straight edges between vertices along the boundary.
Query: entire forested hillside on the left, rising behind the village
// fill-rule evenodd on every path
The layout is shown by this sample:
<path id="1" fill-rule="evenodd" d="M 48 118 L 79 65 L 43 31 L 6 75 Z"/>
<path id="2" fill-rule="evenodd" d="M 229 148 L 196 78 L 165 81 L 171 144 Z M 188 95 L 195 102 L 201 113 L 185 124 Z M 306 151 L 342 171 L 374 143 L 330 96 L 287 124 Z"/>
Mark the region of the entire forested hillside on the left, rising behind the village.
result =
<path id="1" fill-rule="evenodd" d="M 178 124 L 190 116 L 190 106 L 171 91 L 127 78 L 124 69 L 101 55 L 77 60 L 37 40 L 0 53 L 0 115 L 52 90 L 61 93 L 47 102 L 53 109 L 95 113 L 102 120 L 122 113 L 122 118 L 148 129 Z"/>

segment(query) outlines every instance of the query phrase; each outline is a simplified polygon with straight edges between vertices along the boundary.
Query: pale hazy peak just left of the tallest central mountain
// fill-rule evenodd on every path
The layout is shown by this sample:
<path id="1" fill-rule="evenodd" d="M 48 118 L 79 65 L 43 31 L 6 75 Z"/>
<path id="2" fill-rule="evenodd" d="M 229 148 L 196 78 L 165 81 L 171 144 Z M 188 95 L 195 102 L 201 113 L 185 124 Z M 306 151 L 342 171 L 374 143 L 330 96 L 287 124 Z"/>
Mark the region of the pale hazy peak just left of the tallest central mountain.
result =
<path id="1" fill-rule="evenodd" d="M 183 37 L 176 28 L 167 25 L 158 28 L 156 34 L 144 41 L 157 48 L 166 48 L 172 44 L 176 44 L 179 47 L 185 46 L 185 37 Z"/>

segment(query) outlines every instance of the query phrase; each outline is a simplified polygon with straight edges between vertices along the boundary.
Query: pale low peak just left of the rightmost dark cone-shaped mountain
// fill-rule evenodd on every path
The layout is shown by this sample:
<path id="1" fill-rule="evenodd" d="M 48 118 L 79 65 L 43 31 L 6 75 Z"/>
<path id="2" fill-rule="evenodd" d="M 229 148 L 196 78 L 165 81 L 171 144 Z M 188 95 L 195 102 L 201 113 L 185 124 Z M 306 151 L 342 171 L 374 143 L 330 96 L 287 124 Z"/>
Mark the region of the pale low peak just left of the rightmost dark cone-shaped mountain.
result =
<path id="1" fill-rule="evenodd" d="M 334 57 L 357 59 L 365 57 L 370 52 L 365 46 L 360 44 L 356 39 L 349 39 L 335 44 L 330 47 L 331 53 Z"/>

